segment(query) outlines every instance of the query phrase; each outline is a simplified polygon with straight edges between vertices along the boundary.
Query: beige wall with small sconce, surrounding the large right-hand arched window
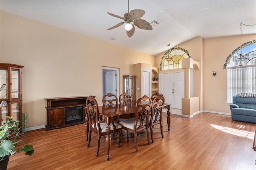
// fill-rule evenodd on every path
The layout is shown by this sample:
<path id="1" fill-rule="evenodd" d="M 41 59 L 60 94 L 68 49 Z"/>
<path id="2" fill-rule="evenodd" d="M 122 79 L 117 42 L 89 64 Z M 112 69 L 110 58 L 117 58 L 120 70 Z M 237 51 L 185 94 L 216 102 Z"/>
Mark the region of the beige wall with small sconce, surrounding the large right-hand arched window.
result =
<path id="1" fill-rule="evenodd" d="M 256 39 L 254 35 L 243 35 L 242 43 Z M 227 70 L 223 69 L 226 58 L 240 46 L 240 36 L 212 38 L 204 40 L 204 110 L 231 113 L 226 102 Z M 212 71 L 217 71 L 216 76 Z"/>

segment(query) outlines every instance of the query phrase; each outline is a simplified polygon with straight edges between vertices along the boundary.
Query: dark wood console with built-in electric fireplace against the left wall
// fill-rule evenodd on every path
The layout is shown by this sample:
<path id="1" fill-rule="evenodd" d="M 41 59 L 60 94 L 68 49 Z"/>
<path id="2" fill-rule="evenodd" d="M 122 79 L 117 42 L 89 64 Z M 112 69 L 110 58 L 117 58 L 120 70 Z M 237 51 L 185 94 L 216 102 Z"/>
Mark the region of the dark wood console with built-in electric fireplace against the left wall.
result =
<path id="1" fill-rule="evenodd" d="M 86 99 L 89 96 L 45 98 L 46 130 L 85 123 Z"/>

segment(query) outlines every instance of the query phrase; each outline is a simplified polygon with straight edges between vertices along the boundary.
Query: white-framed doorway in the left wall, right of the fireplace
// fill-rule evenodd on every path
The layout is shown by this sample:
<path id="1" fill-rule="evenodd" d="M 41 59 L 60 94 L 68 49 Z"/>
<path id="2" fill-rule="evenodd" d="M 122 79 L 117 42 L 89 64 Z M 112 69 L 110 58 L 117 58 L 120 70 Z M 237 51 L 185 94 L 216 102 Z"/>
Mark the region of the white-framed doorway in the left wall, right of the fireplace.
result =
<path id="1" fill-rule="evenodd" d="M 119 99 L 119 69 L 102 67 L 102 97 L 112 93 Z"/>

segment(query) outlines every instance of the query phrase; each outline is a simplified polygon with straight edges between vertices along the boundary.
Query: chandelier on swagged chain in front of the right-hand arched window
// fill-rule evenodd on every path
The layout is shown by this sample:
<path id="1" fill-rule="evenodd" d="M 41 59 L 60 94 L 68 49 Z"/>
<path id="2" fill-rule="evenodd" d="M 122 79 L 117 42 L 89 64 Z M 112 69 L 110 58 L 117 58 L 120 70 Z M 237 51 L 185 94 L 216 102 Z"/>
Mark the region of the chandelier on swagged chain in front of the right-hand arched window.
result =
<path id="1" fill-rule="evenodd" d="M 240 53 L 237 52 L 235 55 L 233 55 L 233 62 L 235 62 L 236 66 L 239 66 L 239 67 L 247 65 L 247 62 L 250 59 L 249 53 L 242 53 L 242 25 L 255 26 L 256 24 L 246 25 L 240 22 Z"/>

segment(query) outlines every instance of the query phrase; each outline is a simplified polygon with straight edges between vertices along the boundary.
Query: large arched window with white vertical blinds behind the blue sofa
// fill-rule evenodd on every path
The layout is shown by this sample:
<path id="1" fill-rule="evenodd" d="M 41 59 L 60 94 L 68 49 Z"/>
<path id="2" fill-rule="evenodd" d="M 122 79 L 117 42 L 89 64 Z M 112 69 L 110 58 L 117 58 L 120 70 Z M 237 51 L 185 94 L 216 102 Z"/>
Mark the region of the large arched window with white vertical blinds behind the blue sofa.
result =
<path id="1" fill-rule="evenodd" d="M 227 69 L 227 103 L 232 103 L 233 95 L 256 93 L 256 40 L 244 43 L 228 55 L 224 69 Z"/>

